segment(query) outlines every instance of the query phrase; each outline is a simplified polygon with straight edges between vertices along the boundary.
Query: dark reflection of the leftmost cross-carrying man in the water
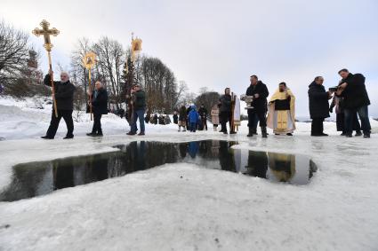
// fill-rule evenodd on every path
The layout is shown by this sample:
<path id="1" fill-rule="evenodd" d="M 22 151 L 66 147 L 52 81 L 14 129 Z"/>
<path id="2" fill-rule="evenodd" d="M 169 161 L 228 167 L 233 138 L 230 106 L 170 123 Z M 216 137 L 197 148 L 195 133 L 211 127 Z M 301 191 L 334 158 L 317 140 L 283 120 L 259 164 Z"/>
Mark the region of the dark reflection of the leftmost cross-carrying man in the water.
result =
<path id="1" fill-rule="evenodd" d="M 60 162 L 60 161 L 59 161 Z M 53 189 L 75 186 L 73 160 L 55 162 L 52 164 Z"/>

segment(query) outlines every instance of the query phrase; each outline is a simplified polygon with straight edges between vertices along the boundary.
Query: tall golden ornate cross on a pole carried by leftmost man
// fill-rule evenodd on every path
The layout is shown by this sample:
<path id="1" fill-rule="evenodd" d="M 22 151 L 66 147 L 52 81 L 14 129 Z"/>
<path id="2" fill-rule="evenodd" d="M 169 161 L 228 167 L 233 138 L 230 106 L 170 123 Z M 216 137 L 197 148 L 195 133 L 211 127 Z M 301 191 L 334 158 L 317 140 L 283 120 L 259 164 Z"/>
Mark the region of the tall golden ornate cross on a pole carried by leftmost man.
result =
<path id="1" fill-rule="evenodd" d="M 50 23 L 46 20 L 42 20 L 40 23 L 40 26 L 42 29 L 36 27 L 33 30 L 33 34 L 36 36 L 39 35 L 44 35 L 44 49 L 47 51 L 47 56 L 49 58 L 49 68 L 50 71 L 52 72 L 52 56 L 51 56 L 51 51 L 52 51 L 52 43 L 50 40 L 50 35 L 57 36 L 59 34 L 59 30 L 57 30 L 55 27 L 52 27 L 49 29 Z M 54 87 L 54 82 L 53 82 L 53 75 L 50 75 L 51 81 L 52 81 L 52 102 L 53 102 L 53 108 L 55 112 L 55 117 L 58 117 L 58 110 L 56 106 L 56 99 L 55 99 L 55 87 Z"/>

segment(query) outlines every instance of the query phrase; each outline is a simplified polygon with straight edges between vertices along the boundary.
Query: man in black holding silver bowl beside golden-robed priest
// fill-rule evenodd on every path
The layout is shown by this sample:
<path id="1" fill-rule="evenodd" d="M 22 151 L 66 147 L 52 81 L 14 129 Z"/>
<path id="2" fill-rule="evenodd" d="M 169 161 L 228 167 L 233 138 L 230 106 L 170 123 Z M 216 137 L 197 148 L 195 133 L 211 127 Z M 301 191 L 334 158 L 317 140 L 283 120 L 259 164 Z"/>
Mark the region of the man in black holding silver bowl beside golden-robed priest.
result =
<path id="1" fill-rule="evenodd" d="M 248 135 L 252 137 L 254 133 L 254 125 L 257 124 L 256 119 L 260 121 L 262 137 L 267 137 L 267 111 L 269 91 L 267 86 L 259 81 L 256 75 L 250 77 L 251 85 L 245 91 L 246 96 L 253 96 L 251 106 L 253 109 L 248 109 Z M 256 116 L 257 115 L 257 116 Z"/>

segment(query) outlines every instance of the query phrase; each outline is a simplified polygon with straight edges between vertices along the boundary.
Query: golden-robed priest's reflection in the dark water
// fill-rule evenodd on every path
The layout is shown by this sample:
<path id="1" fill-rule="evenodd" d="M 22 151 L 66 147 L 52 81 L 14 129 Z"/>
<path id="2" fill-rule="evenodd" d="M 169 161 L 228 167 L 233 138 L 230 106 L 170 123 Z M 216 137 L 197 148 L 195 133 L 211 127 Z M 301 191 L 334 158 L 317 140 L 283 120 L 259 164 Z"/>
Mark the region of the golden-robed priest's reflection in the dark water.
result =
<path id="1" fill-rule="evenodd" d="M 295 174 L 295 156 L 284 153 L 268 153 L 269 168 L 277 181 L 289 181 Z"/>

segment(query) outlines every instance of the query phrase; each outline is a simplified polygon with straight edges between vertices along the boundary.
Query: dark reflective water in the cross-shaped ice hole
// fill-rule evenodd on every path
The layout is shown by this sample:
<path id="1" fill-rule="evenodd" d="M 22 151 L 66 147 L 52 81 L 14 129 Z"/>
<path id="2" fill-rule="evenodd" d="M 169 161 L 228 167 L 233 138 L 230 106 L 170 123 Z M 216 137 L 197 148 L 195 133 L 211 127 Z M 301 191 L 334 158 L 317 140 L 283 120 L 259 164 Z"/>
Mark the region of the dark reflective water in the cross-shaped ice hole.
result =
<path id="1" fill-rule="evenodd" d="M 316 165 L 303 155 L 230 148 L 236 144 L 220 140 L 187 143 L 135 141 L 115 146 L 121 150 L 116 153 L 19 164 L 13 167 L 12 183 L 0 192 L 0 201 L 32 198 L 165 163 L 195 163 L 205 169 L 243 173 L 289 184 L 308 184 L 317 170 Z"/>

